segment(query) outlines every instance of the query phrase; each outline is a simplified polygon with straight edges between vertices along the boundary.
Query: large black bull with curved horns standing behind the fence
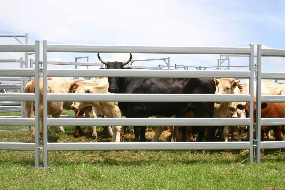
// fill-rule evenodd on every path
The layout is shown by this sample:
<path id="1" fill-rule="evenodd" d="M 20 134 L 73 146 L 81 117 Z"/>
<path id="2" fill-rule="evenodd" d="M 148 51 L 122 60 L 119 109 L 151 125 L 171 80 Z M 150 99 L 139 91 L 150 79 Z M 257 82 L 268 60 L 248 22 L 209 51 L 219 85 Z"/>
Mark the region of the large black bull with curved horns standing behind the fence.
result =
<path id="1" fill-rule="evenodd" d="M 99 60 L 107 66 L 106 69 L 124 68 L 131 59 L 125 62 L 107 62 Z M 131 78 L 108 77 L 111 93 L 149 93 L 149 94 L 215 94 L 213 78 Z M 128 118 L 145 118 L 153 115 L 165 117 L 183 117 L 188 111 L 193 111 L 196 118 L 213 118 L 214 102 L 118 102 L 119 109 Z M 189 124 L 191 125 L 191 124 Z M 197 130 L 198 141 L 203 140 L 206 126 L 194 127 Z M 146 126 L 135 126 L 135 142 L 146 142 Z M 210 141 L 215 141 L 215 127 L 209 126 Z"/>

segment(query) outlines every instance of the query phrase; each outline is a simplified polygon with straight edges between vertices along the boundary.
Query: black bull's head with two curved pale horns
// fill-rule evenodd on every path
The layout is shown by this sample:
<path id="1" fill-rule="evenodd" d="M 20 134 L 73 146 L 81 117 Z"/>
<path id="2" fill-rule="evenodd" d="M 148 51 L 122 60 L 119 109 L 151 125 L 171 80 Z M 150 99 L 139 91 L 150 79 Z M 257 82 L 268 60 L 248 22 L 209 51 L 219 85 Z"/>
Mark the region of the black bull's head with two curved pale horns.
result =
<path id="1" fill-rule="evenodd" d="M 99 53 L 97 54 L 99 60 L 107 66 L 106 69 L 125 69 L 124 66 L 127 65 L 131 60 L 132 60 L 132 54 L 130 54 L 130 58 L 127 61 L 124 62 L 109 62 L 103 60 L 100 56 Z M 127 68 L 126 68 L 127 69 Z M 119 92 L 119 83 L 120 83 L 121 78 L 118 77 L 108 77 L 108 82 L 109 82 L 109 88 L 108 92 L 111 93 L 118 93 Z"/>

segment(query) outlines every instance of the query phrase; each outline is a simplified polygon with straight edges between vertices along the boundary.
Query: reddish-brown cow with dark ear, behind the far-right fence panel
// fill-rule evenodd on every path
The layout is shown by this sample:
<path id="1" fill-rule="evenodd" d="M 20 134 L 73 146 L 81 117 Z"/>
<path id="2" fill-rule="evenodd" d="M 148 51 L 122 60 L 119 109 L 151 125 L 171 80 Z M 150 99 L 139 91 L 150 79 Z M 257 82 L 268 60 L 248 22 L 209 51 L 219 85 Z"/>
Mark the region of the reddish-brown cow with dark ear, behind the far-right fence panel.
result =
<path id="1" fill-rule="evenodd" d="M 247 118 L 249 118 L 249 102 L 247 102 L 245 105 L 238 104 L 238 109 L 245 109 L 245 114 Z M 253 102 L 253 120 L 256 122 L 256 102 Z M 285 117 L 285 103 L 261 103 L 261 118 L 283 118 Z M 261 126 L 261 139 L 260 141 L 264 141 L 264 133 L 267 133 L 269 130 L 273 130 L 275 140 L 282 140 L 281 131 L 284 134 L 284 126 Z M 284 140 L 284 138 L 283 138 Z M 284 151 L 285 149 L 281 149 L 281 151 Z M 262 156 L 264 154 L 264 150 L 260 150 L 260 155 Z"/>

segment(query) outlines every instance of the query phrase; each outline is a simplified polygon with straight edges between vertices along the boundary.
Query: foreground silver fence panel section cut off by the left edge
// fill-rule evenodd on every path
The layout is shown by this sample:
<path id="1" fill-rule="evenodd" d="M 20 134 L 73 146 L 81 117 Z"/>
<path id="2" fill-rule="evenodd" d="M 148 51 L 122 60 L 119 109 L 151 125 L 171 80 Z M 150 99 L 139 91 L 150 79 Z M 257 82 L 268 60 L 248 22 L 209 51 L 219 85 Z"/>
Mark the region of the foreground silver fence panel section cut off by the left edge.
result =
<path id="1" fill-rule="evenodd" d="M 35 52 L 35 60 L 39 60 L 40 42 L 34 44 L 0 44 L 0 52 Z M 22 150 L 35 151 L 35 166 L 39 166 L 39 70 L 38 64 L 35 69 L 0 69 L 3 77 L 35 77 L 35 93 L 1 93 L 0 99 L 3 101 L 34 101 L 35 118 L 0 118 L 1 126 L 35 126 L 35 143 L 23 142 L 0 142 L 0 150 Z"/>

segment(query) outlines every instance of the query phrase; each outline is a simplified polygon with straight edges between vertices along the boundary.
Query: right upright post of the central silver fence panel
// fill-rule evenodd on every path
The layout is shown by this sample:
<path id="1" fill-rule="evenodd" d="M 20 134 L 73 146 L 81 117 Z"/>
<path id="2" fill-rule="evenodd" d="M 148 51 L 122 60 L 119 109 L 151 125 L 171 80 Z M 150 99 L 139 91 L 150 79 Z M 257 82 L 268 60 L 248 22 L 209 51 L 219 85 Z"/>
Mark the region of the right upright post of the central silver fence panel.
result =
<path id="1" fill-rule="evenodd" d="M 249 126 L 249 163 L 253 164 L 253 89 L 254 89 L 254 44 L 250 44 L 251 53 L 249 56 L 249 70 L 250 70 L 250 78 L 249 78 L 249 94 L 250 94 L 250 109 L 249 109 L 249 117 L 250 117 L 250 126 Z"/>

